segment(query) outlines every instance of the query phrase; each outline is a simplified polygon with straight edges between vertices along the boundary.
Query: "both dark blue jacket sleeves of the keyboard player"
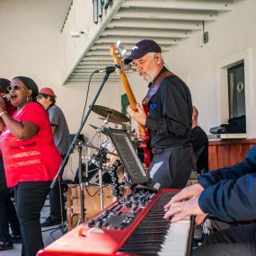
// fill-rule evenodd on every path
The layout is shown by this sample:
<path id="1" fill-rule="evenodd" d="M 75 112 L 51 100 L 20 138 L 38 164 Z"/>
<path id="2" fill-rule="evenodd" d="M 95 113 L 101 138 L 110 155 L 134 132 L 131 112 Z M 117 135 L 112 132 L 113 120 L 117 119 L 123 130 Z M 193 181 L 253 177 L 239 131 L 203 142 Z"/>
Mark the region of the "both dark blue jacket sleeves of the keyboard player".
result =
<path id="1" fill-rule="evenodd" d="M 224 221 L 256 218 L 256 146 L 243 162 L 208 172 L 199 179 L 205 190 L 199 197 L 203 212 Z"/>

